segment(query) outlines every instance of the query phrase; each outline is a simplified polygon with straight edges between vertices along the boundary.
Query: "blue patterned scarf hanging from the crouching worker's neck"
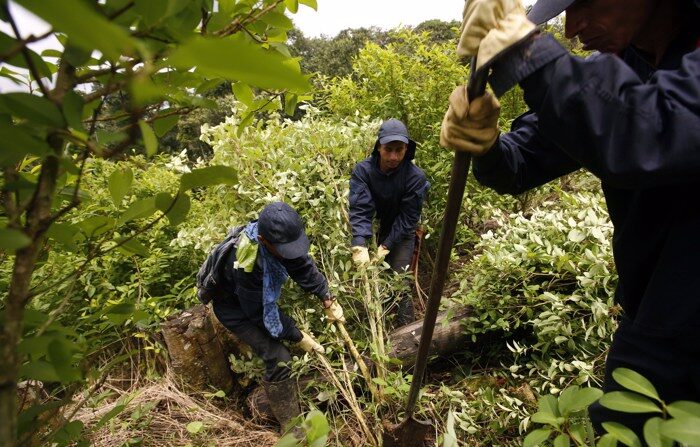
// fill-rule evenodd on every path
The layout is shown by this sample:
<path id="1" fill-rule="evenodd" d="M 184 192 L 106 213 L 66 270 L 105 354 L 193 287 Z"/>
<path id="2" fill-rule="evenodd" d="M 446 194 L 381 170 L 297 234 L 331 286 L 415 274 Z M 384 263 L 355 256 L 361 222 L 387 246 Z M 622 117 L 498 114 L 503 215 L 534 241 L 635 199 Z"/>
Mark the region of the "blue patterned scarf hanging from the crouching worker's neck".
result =
<path id="1" fill-rule="evenodd" d="M 245 227 L 248 239 L 258 244 L 258 222 L 254 221 Z M 287 270 L 263 244 L 258 244 L 258 253 L 262 255 L 263 267 L 263 323 L 270 335 L 277 338 L 282 333 L 282 321 L 277 308 L 277 300 L 282 291 L 282 284 L 287 280 Z"/>

